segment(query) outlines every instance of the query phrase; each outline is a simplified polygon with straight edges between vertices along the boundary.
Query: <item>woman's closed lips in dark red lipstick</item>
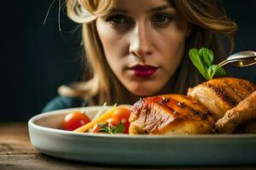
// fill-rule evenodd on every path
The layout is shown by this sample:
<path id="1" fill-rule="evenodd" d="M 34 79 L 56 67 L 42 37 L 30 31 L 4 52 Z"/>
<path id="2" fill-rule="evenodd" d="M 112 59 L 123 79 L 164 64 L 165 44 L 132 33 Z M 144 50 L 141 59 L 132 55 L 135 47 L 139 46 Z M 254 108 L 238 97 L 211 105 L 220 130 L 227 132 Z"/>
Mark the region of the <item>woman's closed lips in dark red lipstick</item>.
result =
<path id="1" fill-rule="evenodd" d="M 131 67 L 136 77 L 150 77 L 157 71 L 157 67 L 152 65 L 135 65 Z"/>

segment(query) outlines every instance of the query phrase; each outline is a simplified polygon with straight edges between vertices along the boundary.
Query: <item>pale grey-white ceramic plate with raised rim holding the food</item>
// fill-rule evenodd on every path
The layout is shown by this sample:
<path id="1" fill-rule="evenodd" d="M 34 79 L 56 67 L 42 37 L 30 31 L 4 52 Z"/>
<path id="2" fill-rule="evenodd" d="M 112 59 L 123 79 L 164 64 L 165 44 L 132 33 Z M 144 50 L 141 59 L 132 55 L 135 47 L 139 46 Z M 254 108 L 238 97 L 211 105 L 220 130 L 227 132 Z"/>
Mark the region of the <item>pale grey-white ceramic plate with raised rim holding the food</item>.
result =
<path id="1" fill-rule="evenodd" d="M 128 135 L 73 133 L 60 129 L 63 117 L 86 111 L 92 117 L 102 106 L 51 111 L 28 122 L 32 145 L 64 159 L 115 165 L 198 166 L 256 163 L 256 135 Z"/>

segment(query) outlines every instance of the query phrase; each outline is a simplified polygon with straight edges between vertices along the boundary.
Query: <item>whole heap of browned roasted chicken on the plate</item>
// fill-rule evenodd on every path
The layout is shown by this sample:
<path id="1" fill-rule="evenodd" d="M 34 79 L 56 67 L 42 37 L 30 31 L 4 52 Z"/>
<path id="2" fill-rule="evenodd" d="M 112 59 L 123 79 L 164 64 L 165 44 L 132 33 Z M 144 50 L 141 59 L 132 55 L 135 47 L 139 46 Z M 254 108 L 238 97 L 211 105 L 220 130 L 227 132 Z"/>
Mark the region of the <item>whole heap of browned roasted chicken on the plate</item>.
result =
<path id="1" fill-rule="evenodd" d="M 256 133 L 256 85 L 222 77 L 189 88 L 188 96 L 140 99 L 131 107 L 129 133 Z"/>

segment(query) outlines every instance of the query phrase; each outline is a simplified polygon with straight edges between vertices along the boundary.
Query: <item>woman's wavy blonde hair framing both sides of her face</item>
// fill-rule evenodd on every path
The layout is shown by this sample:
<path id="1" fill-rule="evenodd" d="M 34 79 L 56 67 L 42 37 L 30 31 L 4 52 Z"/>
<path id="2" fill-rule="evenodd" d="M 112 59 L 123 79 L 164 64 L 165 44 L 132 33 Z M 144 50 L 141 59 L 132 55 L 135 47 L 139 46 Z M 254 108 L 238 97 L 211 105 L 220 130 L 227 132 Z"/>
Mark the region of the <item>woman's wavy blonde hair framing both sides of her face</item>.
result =
<path id="1" fill-rule="evenodd" d="M 82 25 L 85 55 L 92 74 L 89 81 L 76 82 L 71 87 L 61 86 L 60 94 L 82 97 L 89 100 L 90 105 L 102 105 L 105 101 L 108 105 L 131 103 L 125 95 L 128 90 L 108 66 L 96 31 L 96 18 L 108 14 L 113 3 L 114 0 L 67 0 L 68 16 Z M 215 62 L 218 62 L 221 56 L 232 52 L 237 26 L 216 0 L 173 0 L 172 4 L 193 26 L 185 45 L 183 61 L 173 76 L 175 86 L 172 93 L 185 94 L 187 88 L 202 82 L 198 72 L 189 74 L 189 71 L 195 70 L 189 61 L 189 48 L 211 48 L 216 54 Z M 229 42 L 229 46 L 225 42 Z"/>

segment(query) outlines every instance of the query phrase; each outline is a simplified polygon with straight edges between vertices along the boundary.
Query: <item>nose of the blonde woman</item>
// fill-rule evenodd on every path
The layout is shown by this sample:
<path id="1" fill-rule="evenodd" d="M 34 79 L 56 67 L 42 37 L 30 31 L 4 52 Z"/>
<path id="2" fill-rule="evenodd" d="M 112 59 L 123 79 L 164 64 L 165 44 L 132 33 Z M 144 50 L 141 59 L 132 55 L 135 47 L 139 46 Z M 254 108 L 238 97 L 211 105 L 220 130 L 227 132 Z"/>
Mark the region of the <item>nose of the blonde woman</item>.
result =
<path id="1" fill-rule="evenodd" d="M 152 55 L 154 48 L 151 42 L 150 28 L 146 26 L 136 26 L 131 33 L 129 52 L 139 58 Z"/>

